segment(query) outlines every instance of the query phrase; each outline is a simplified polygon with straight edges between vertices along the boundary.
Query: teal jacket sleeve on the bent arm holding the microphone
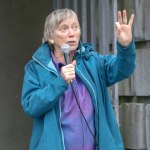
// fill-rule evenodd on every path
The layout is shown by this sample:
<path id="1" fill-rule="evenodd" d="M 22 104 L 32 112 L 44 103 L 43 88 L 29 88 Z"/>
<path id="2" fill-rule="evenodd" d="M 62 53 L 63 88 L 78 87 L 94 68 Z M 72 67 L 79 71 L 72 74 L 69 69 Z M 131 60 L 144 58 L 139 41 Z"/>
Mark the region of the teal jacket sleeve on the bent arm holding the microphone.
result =
<path id="1" fill-rule="evenodd" d="M 40 117 L 55 106 L 67 88 L 68 84 L 61 76 L 41 87 L 37 73 L 27 64 L 22 88 L 22 107 L 29 116 Z"/>

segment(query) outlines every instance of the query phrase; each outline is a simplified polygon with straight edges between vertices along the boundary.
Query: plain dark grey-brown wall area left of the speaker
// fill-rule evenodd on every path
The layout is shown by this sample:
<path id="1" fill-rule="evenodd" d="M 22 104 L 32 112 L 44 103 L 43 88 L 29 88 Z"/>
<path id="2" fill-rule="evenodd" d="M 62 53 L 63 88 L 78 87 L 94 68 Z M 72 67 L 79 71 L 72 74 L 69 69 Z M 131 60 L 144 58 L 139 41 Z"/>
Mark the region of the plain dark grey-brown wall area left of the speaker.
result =
<path id="1" fill-rule="evenodd" d="M 0 0 L 0 150 L 27 150 L 32 121 L 21 107 L 24 65 L 41 44 L 50 0 Z"/>

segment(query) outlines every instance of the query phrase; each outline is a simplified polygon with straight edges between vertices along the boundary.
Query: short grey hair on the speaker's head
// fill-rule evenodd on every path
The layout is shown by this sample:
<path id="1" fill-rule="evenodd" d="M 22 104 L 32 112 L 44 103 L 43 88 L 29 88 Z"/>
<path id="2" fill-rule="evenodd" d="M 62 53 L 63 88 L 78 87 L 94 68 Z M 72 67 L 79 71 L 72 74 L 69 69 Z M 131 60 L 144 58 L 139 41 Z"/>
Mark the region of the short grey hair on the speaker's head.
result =
<path id="1" fill-rule="evenodd" d="M 52 13 L 50 13 L 45 20 L 42 42 L 43 43 L 48 42 L 48 39 L 52 37 L 52 34 L 54 30 L 58 27 L 58 25 L 62 23 L 64 20 L 70 18 L 76 18 L 78 20 L 76 13 L 73 10 L 68 8 L 57 9 Z"/>

